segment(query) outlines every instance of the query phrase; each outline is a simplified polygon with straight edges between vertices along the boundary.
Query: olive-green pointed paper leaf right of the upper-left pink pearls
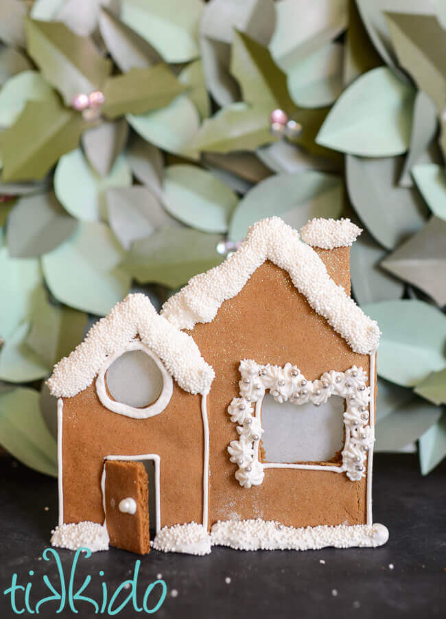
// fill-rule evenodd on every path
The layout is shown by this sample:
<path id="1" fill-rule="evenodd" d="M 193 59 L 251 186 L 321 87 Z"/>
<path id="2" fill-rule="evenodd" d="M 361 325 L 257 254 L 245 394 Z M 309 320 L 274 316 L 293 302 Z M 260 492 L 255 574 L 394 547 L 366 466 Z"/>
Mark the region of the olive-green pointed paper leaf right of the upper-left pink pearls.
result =
<path id="1" fill-rule="evenodd" d="M 104 115 L 143 114 L 169 105 L 185 90 L 167 65 L 130 69 L 108 78 L 104 84 Z"/>

